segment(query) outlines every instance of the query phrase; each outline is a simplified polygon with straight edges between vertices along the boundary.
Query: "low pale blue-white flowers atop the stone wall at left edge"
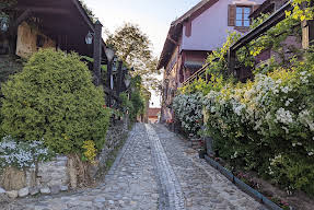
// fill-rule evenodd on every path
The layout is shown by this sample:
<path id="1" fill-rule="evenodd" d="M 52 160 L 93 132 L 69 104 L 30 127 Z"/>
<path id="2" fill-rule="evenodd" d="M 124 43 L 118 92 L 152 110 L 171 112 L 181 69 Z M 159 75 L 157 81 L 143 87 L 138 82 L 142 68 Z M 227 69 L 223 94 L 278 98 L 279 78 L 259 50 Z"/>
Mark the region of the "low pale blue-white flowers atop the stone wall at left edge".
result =
<path id="1" fill-rule="evenodd" d="M 43 141 L 18 142 L 12 137 L 3 137 L 0 142 L 0 166 L 18 168 L 34 167 L 36 163 L 50 160 L 54 153 Z"/>

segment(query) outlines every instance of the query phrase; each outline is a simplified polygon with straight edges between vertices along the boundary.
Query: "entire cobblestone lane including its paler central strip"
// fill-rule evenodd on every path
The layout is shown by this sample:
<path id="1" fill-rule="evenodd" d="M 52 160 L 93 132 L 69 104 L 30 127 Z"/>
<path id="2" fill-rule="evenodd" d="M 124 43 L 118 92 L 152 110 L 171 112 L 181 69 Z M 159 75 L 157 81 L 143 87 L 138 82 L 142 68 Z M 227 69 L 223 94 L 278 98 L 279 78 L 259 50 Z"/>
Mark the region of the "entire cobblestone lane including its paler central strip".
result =
<path id="1" fill-rule="evenodd" d="M 137 124 L 103 185 L 2 210 L 263 210 L 161 125 Z"/>

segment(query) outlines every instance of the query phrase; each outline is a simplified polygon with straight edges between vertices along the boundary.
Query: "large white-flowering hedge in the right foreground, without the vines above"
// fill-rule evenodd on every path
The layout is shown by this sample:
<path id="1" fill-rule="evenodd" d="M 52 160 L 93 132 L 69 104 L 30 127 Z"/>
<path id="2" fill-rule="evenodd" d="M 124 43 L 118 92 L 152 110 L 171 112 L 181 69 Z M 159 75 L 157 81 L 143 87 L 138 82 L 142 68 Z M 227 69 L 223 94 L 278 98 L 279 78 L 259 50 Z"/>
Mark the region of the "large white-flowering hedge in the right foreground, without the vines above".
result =
<path id="1" fill-rule="evenodd" d="M 225 85 L 205 100 L 205 121 L 224 159 L 314 194 L 314 56 Z M 257 155 L 258 154 L 258 155 Z"/>

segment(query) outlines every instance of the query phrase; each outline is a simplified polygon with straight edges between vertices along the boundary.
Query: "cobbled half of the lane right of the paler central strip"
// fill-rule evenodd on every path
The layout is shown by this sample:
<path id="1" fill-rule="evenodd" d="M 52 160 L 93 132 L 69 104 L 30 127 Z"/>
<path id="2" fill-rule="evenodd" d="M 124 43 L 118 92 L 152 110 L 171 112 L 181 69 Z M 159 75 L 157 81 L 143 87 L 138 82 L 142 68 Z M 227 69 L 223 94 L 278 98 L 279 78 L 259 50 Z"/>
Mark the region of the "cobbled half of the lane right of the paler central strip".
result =
<path id="1" fill-rule="evenodd" d="M 265 210 L 228 178 L 189 149 L 176 135 L 154 125 L 168 162 L 176 174 L 188 210 Z"/>

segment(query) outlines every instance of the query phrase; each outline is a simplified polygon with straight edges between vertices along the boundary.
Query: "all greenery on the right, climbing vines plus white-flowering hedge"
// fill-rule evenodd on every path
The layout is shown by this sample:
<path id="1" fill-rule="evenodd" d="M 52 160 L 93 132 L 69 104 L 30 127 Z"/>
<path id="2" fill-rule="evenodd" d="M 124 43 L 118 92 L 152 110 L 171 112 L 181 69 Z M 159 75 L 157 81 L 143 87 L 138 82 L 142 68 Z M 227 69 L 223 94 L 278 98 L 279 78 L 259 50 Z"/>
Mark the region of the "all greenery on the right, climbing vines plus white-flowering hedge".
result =
<path id="1" fill-rule="evenodd" d="M 208 57 L 211 81 L 195 81 L 181 89 L 191 96 L 202 93 L 206 132 L 214 139 L 219 156 L 233 166 L 256 171 L 288 190 L 314 195 L 314 54 L 284 46 L 288 36 L 301 36 L 300 21 L 313 19 L 309 0 L 294 0 L 287 19 L 236 52 L 236 68 L 249 67 L 255 79 L 243 84 L 226 75 L 226 52 L 239 36 Z M 256 27 L 269 15 L 253 23 Z M 255 57 L 271 48 L 271 58 L 255 68 Z M 287 49 L 291 51 L 287 56 Z M 218 82 L 218 84 L 212 84 Z M 183 95 L 184 96 L 184 95 Z M 195 103 L 197 105 L 198 103 Z"/>

